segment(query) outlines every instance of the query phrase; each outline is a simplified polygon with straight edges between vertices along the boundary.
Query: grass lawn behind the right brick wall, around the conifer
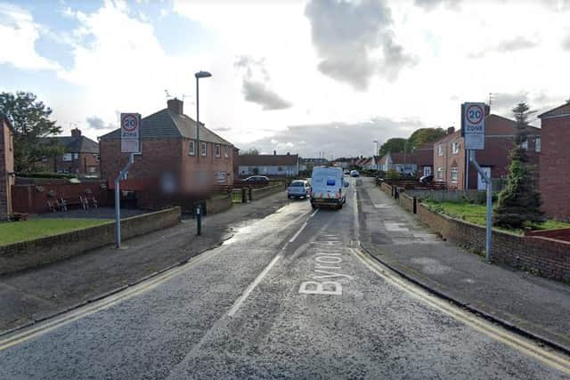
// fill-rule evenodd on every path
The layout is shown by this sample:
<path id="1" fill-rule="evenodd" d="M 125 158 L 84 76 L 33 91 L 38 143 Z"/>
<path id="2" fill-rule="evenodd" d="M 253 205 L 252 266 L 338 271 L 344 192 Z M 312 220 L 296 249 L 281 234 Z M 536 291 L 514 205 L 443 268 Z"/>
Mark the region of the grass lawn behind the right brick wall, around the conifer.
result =
<path id="1" fill-rule="evenodd" d="M 485 226 L 486 206 L 485 205 L 472 205 L 469 203 L 456 203 L 456 202 L 423 202 L 429 206 L 430 209 L 441 214 L 447 214 L 454 218 L 461 219 L 466 222 L 472 222 Z M 558 221 L 546 221 L 539 224 L 532 224 L 533 230 L 554 230 L 559 228 L 570 228 L 570 223 Z M 500 229 L 506 230 L 506 229 Z M 523 233 L 522 230 L 509 230 L 510 232 Z"/>

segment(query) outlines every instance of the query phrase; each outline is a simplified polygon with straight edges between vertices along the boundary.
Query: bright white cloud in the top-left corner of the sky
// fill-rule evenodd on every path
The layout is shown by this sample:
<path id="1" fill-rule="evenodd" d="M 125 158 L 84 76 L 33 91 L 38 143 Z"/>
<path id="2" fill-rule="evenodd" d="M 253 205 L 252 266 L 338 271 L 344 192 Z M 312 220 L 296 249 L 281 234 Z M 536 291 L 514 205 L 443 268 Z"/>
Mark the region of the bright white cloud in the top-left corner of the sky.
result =
<path id="1" fill-rule="evenodd" d="M 10 63 L 18 69 L 58 69 L 57 62 L 36 52 L 35 44 L 41 32 L 28 11 L 0 3 L 0 63 Z"/>

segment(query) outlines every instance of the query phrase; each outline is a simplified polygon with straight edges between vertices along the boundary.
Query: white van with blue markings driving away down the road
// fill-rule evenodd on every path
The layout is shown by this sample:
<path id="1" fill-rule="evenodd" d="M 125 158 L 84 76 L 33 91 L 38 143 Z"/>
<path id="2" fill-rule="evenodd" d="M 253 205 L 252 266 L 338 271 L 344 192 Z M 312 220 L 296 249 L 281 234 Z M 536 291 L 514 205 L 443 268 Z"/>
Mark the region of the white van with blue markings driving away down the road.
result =
<path id="1" fill-rule="evenodd" d="M 348 182 L 340 167 L 315 167 L 311 177 L 311 206 L 342 208 Z"/>

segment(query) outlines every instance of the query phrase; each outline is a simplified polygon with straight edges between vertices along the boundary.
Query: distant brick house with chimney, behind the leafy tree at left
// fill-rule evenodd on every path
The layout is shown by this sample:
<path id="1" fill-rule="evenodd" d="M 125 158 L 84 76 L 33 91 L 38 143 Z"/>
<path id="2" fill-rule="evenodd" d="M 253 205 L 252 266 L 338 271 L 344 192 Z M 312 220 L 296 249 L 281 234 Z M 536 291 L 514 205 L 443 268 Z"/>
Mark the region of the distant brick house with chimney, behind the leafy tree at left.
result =
<path id="1" fill-rule="evenodd" d="M 42 164 L 46 170 L 80 175 L 99 174 L 99 144 L 83 136 L 79 128 L 72 129 L 70 136 L 45 137 L 42 142 L 57 143 L 65 149 L 63 156 L 44 158 Z"/>

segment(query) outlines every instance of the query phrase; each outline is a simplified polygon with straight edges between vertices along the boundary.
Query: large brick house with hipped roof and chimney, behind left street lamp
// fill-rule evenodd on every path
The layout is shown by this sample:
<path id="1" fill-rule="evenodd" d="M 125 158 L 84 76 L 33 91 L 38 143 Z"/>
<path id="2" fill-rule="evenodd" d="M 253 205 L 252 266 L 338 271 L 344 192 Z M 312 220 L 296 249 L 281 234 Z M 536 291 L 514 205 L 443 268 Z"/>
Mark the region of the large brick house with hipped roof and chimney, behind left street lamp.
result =
<path id="1" fill-rule="evenodd" d="M 238 150 L 233 144 L 184 115 L 183 101 L 170 99 L 167 108 L 141 120 L 142 155 L 121 189 L 135 190 L 139 206 L 156 208 L 183 204 L 205 194 L 217 185 L 232 185 L 234 160 Z M 120 151 L 120 130 L 99 138 L 101 175 L 110 189 L 128 161 Z"/>

